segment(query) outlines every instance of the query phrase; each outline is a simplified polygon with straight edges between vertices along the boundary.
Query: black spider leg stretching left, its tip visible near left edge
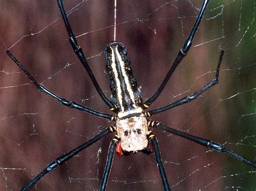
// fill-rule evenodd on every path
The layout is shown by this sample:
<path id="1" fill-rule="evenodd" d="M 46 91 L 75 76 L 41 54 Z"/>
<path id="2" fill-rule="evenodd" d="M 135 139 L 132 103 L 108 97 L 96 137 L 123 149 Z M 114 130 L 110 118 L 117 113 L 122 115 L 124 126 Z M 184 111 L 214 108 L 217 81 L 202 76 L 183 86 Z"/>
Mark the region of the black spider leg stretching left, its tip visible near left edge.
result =
<path id="1" fill-rule="evenodd" d="M 86 108 L 83 105 L 80 105 L 76 102 L 70 102 L 68 100 L 66 100 L 63 97 L 60 97 L 58 95 L 56 95 L 55 93 L 53 93 L 52 91 L 50 91 L 49 89 L 45 88 L 43 85 L 39 84 L 35 78 L 28 72 L 28 70 L 25 69 L 25 67 L 10 53 L 10 51 L 6 51 L 6 53 L 10 56 L 10 58 L 18 65 L 19 68 L 21 68 L 23 70 L 23 72 L 30 78 L 30 80 L 36 85 L 37 89 L 39 91 L 43 91 L 43 93 L 50 95 L 51 97 L 55 98 L 56 100 L 58 100 L 61 104 L 65 105 L 66 107 L 70 107 L 70 108 L 75 108 L 78 110 L 82 110 L 85 112 L 88 112 L 89 114 L 98 116 L 98 117 L 102 117 L 105 119 L 109 119 L 109 120 L 114 120 L 114 117 L 112 115 L 109 114 L 104 114 L 102 112 L 90 109 L 90 108 Z"/>

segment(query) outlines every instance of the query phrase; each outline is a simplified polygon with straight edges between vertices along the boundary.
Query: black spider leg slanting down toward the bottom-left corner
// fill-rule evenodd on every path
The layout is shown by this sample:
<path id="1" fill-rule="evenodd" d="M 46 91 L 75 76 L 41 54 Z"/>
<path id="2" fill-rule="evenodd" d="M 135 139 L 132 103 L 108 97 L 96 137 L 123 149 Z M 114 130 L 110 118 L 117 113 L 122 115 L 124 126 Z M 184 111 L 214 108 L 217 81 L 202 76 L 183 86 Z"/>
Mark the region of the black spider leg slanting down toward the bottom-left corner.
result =
<path id="1" fill-rule="evenodd" d="M 104 129 L 102 132 L 98 133 L 95 137 L 91 138 L 84 144 L 74 148 L 72 151 L 62 155 L 61 157 L 55 159 L 49 165 L 47 165 L 41 173 L 39 173 L 35 178 L 33 178 L 26 186 L 24 186 L 21 190 L 28 190 L 31 186 L 35 185 L 43 176 L 49 172 L 52 172 L 56 167 L 62 165 L 64 162 L 71 159 L 77 153 L 83 151 L 86 147 L 91 146 L 93 143 L 96 143 L 100 138 L 104 137 L 105 135 L 112 133 L 114 130 L 112 127 Z"/>

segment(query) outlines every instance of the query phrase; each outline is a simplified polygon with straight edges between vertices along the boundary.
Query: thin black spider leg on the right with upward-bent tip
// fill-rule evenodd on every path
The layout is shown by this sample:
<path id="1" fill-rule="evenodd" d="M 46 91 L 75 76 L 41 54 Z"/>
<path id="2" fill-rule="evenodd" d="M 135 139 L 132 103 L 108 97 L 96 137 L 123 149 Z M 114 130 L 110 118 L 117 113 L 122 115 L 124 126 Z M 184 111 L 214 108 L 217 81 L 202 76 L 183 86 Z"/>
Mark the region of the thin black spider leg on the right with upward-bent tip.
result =
<path id="1" fill-rule="evenodd" d="M 199 91 L 194 92 L 190 96 L 183 97 L 183 98 L 181 98 L 180 100 L 178 100 L 174 103 L 166 105 L 165 107 L 149 110 L 149 111 L 146 112 L 146 115 L 147 116 L 152 116 L 154 114 L 158 114 L 159 112 L 163 112 L 163 111 L 169 110 L 171 108 L 177 107 L 178 105 L 189 103 L 189 102 L 195 100 L 196 98 L 198 98 L 204 91 L 206 91 L 207 89 L 209 89 L 212 86 L 214 86 L 215 84 L 217 84 L 219 82 L 219 70 L 220 70 L 220 63 L 222 61 L 223 54 L 224 54 L 224 51 L 222 50 L 220 52 L 220 57 L 219 57 L 219 61 L 218 61 L 218 64 L 217 64 L 215 77 L 209 83 L 207 83 L 203 88 L 201 88 Z"/>

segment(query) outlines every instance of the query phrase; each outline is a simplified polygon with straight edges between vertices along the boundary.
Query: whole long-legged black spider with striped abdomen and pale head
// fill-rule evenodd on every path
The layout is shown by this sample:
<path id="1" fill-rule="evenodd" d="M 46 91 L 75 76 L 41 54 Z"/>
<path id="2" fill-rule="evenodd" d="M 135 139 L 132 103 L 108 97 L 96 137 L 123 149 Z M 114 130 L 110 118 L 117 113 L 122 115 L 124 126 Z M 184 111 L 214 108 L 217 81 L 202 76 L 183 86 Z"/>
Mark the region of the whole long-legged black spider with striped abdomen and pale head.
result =
<path id="1" fill-rule="evenodd" d="M 95 79 L 86 59 L 82 48 L 78 46 L 76 37 L 74 36 L 71 26 L 68 21 L 68 17 L 66 16 L 66 12 L 64 10 L 64 6 L 62 0 L 57 0 L 60 12 L 62 14 L 62 18 L 64 20 L 66 30 L 69 34 L 70 44 L 72 45 L 73 51 L 77 54 L 79 60 L 82 62 L 83 66 L 85 67 L 87 73 L 89 74 L 93 85 L 95 86 L 98 94 L 105 102 L 107 107 L 111 111 L 115 113 L 115 115 L 104 114 L 103 112 L 99 112 L 83 105 L 77 104 L 75 102 L 71 102 L 66 100 L 63 97 L 60 97 L 50 91 L 49 89 L 45 88 L 42 84 L 39 84 L 35 78 L 25 69 L 25 67 L 10 53 L 10 51 L 6 51 L 10 58 L 17 64 L 19 68 L 23 70 L 23 72 L 30 78 L 30 80 L 35 84 L 38 90 L 43 91 L 46 95 L 50 95 L 51 97 L 58 100 L 60 103 L 65 105 L 66 107 L 75 108 L 78 110 L 82 110 L 88 112 L 89 114 L 102 117 L 105 119 L 109 119 L 113 121 L 114 124 L 109 126 L 108 128 L 104 129 L 103 131 L 99 132 L 98 135 L 91 138 L 84 144 L 74 148 L 72 151 L 60 156 L 59 158 L 52 161 L 49 165 L 47 165 L 42 172 L 40 172 L 35 178 L 33 178 L 27 185 L 25 185 L 22 190 L 27 190 L 32 187 L 36 182 L 43 178 L 44 175 L 53 171 L 57 166 L 62 165 L 64 162 L 71 159 L 74 155 L 84 150 L 86 147 L 96 143 L 100 138 L 104 137 L 105 135 L 116 132 L 115 137 L 111 140 L 109 152 L 107 155 L 107 161 L 105 166 L 104 175 L 102 178 L 102 183 L 100 186 L 100 190 L 105 190 L 107 186 L 107 180 L 109 178 L 110 169 L 113 160 L 113 154 L 116 150 L 118 155 L 125 155 L 129 153 L 137 153 L 139 151 L 145 152 L 146 154 L 153 153 L 156 156 L 156 161 L 158 164 L 159 172 L 161 179 L 163 181 L 163 187 L 165 190 L 170 190 L 169 182 L 167 181 L 165 169 L 163 166 L 163 162 L 161 161 L 161 155 L 159 151 L 159 146 L 156 137 L 154 136 L 153 132 L 149 128 L 159 128 L 164 131 L 173 133 L 174 135 L 184 137 L 188 140 L 191 140 L 194 143 L 198 143 L 205 147 L 213 148 L 216 151 L 224 152 L 228 155 L 231 155 L 233 158 L 241 160 L 246 164 L 256 167 L 256 163 L 250 159 L 246 159 L 241 155 L 228 150 L 224 146 L 212 142 L 211 140 L 199 138 L 193 135 L 190 135 L 185 132 L 181 132 L 179 130 L 175 130 L 170 126 L 162 124 L 157 121 L 152 121 L 150 116 L 154 114 L 158 114 L 160 112 L 169 110 L 171 108 L 177 107 L 179 105 L 191 102 L 198 98 L 204 91 L 211 88 L 215 84 L 218 83 L 219 80 L 219 70 L 221 60 L 224 55 L 224 51 L 221 50 L 219 60 L 217 63 L 217 69 L 215 77 L 205 84 L 203 88 L 194 92 L 193 94 L 183 97 L 180 100 L 165 105 L 164 107 L 160 107 L 157 109 L 149 110 L 150 105 L 156 101 L 158 96 L 161 94 L 163 89 L 166 86 L 166 83 L 169 81 L 170 77 L 172 76 L 174 70 L 178 67 L 179 63 L 188 53 L 192 45 L 192 41 L 194 38 L 194 34 L 196 33 L 199 23 L 203 18 L 204 12 L 206 10 L 207 4 L 210 0 L 204 0 L 201 9 L 199 11 L 198 17 L 196 22 L 191 30 L 190 35 L 188 36 L 187 40 L 183 48 L 179 51 L 176 59 L 174 60 L 169 72 L 165 76 L 163 82 L 160 84 L 160 87 L 157 89 L 156 93 L 154 93 L 150 98 L 143 101 L 140 89 L 137 86 L 137 81 L 132 74 L 132 69 L 130 66 L 130 61 L 127 59 L 127 51 L 125 46 L 118 41 L 113 41 L 109 45 L 106 46 L 104 54 L 107 60 L 107 71 L 110 77 L 110 88 L 112 91 L 111 100 L 105 96 L 102 89 L 100 89 L 98 82 Z"/>

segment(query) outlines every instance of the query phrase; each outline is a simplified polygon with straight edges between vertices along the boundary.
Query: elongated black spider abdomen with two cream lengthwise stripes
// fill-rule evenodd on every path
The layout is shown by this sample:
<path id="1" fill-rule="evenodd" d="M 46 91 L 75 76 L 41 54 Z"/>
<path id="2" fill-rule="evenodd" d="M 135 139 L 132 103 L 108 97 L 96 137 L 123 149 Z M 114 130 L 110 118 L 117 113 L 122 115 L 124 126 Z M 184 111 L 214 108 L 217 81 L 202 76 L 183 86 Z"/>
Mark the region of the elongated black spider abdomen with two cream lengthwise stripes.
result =
<path id="1" fill-rule="evenodd" d="M 139 106 L 142 97 L 126 56 L 126 48 L 122 43 L 113 41 L 106 46 L 104 53 L 110 77 L 112 101 L 118 111 L 118 117 L 124 119 L 140 115 L 143 111 Z"/>

